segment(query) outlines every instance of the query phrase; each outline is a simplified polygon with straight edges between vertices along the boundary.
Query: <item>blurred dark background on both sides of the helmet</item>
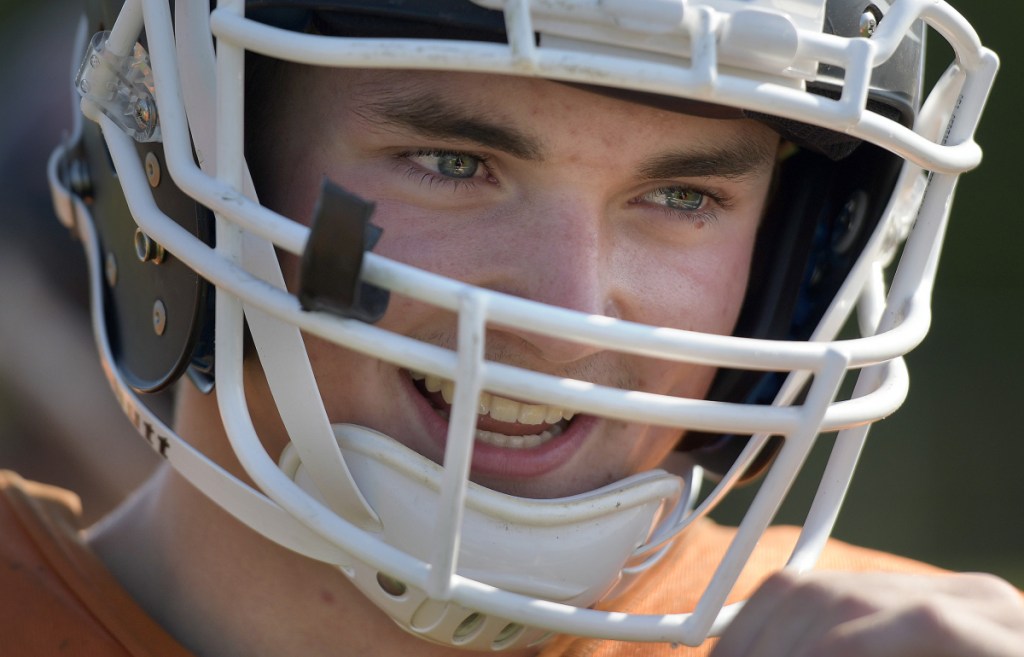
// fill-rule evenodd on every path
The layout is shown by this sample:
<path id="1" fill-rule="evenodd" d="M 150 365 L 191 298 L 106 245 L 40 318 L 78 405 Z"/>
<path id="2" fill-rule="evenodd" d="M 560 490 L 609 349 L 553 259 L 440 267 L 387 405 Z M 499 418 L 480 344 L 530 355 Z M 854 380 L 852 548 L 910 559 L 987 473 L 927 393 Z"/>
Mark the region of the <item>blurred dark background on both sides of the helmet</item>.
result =
<path id="1" fill-rule="evenodd" d="M 978 134 L 985 161 L 961 182 L 934 326 L 909 357 L 910 398 L 872 430 L 835 535 L 1024 587 L 1024 213 L 1016 186 L 1024 8 L 954 4 L 1002 58 Z M 92 519 L 154 461 L 101 381 L 80 249 L 53 218 L 45 187 L 46 155 L 70 125 L 62 80 L 75 16 L 67 1 L 0 0 L 8 52 L 0 64 L 0 468 L 81 491 Z M 944 65 L 948 53 L 934 50 Z M 822 463 L 822 450 L 812 461 Z M 801 522 L 815 484 L 798 482 L 782 521 Z M 717 516 L 735 520 L 749 495 L 739 491 Z"/>

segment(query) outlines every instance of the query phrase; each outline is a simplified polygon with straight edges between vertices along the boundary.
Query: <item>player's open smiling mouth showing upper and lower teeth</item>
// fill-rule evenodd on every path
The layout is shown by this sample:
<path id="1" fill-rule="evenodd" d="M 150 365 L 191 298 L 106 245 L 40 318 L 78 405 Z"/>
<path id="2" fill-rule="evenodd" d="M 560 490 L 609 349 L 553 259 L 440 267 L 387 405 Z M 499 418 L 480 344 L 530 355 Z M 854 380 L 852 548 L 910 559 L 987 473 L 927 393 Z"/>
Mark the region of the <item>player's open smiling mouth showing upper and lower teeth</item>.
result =
<path id="1" fill-rule="evenodd" d="M 410 371 L 417 390 L 438 415 L 447 420 L 455 383 L 434 375 Z M 574 411 L 561 406 L 531 404 L 480 393 L 476 439 L 496 447 L 529 449 L 554 440 L 569 426 Z"/>

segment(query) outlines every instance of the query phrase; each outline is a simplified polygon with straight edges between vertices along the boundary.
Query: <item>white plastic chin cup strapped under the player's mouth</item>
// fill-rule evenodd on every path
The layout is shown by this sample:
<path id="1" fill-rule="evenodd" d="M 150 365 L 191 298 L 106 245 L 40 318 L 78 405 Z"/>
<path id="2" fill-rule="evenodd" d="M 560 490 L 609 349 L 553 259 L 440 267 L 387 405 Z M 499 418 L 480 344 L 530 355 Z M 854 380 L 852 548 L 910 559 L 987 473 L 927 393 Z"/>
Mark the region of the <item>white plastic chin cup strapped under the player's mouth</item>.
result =
<path id="1" fill-rule="evenodd" d="M 334 427 L 359 491 L 378 514 L 377 536 L 412 559 L 431 563 L 445 471 L 397 441 L 352 425 Z M 321 498 L 291 445 L 281 467 Z M 449 475 L 451 476 L 451 475 Z M 596 490 L 530 499 L 469 483 L 458 545 L 459 576 L 530 598 L 587 607 L 628 583 L 660 551 L 634 557 L 677 503 L 683 480 L 664 471 L 634 475 Z M 538 545 L 545 545 L 543 553 Z M 637 563 L 640 561 L 640 563 Z M 549 632 L 432 598 L 373 564 L 339 564 L 359 590 L 402 628 L 441 644 L 476 650 L 543 641 Z M 627 577 L 628 579 L 628 577 Z"/>

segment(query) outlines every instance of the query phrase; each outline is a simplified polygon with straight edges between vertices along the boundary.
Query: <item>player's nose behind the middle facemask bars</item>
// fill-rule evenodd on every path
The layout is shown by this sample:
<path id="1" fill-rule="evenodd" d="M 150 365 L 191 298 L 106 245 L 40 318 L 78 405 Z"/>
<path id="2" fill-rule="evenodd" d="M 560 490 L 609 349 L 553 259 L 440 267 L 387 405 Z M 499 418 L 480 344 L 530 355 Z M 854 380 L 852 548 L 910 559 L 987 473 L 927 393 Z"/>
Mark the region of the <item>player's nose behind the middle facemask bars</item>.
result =
<path id="1" fill-rule="evenodd" d="M 537 194 L 500 222 L 497 248 L 476 284 L 587 314 L 622 316 L 623 273 L 606 209 L 582 193 Z M 492 332 L 488 343 L 517 339 L 550 363 L 579 361 L 600 349 L 529 331 L 530 317 Z"/>

